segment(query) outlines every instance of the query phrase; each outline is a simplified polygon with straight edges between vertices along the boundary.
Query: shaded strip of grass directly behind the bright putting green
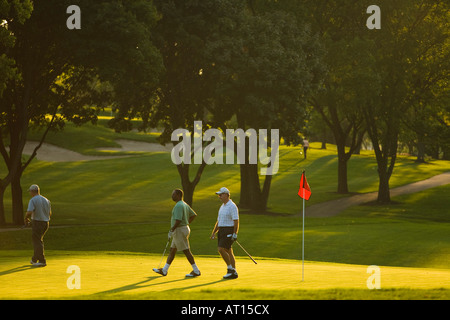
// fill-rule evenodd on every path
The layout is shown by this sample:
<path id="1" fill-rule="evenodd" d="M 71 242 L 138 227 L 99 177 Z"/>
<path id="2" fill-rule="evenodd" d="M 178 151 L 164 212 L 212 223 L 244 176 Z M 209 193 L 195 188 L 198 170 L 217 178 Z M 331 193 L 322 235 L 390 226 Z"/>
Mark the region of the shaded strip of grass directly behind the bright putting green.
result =
<path id="1" fill-rule="evenodd" d="M 439 203 L 450 191 L 443 186 L 403 196 L 391 206 L 359 206 L 331 218 L 307 218 L 305 256 L 308 260 L 348 264 L 449 268 L 450 224 L 447 213 L 436 209 L 423 216 L 429 203 Z M 169 205 L 169 204 L 168 204 Z M 214 206 L 218 207 L 216 203 Z M 211 210 L 212 211 L 212 210 Z M 422 215 L 422 216 L 421 216 Z M 420 218 L 419 218 L 420 217 Z M 49 249 L 69 251 L 118 250 L 159 253 L 165 245 L 169 213 L 145 223 L 53 226 L 46 235 Z M 215 255 L 209 240 L 216 213 L 199 212 L 191 225 L 194 254 Z M 241 215 L 239 240 L 261 257 L 301 258 L 301 219 L 290 216 Z M 1 232 L 0 249 L 30 248 L 28 230 Z M 240 249 L 236 254 L 244 256 Z"/>

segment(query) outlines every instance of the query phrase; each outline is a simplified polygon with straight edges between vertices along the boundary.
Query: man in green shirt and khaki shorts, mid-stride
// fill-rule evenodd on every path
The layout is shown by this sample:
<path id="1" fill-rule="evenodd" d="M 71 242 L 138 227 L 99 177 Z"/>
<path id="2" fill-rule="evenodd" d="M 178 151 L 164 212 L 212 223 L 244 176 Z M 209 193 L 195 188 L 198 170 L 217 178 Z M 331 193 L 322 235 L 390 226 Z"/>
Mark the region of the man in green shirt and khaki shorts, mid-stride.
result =
<path id="1" fill-rule="evenodd" d="M 169 256 L 167 257 L 164 267 L 159 269 L 153 268 L 153 271 L 162 276 L 167 276 L 170 264 L 173 259 L 175 259 L 177 250 L 181 250 L 192 266 L 191 273 L 188 273 L 186 277 L 198 277 L 201 273 L 195 264 L 194 256 L 192 255 L 189 247 L 189 234 L 191 233 L 189 224 L 195 219 L 197 214 L 186 202 L 183 201 L 183 190 L 173 190 L 172 200 L 176 202 L 172 209 L 171 228 L 168 234 L 168 239 L 170 240 L 170 238 L 172 238 L 172 245 L 170 246 Z"/>

